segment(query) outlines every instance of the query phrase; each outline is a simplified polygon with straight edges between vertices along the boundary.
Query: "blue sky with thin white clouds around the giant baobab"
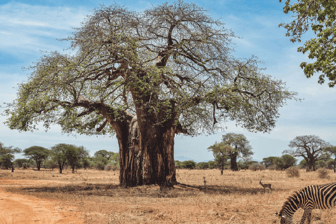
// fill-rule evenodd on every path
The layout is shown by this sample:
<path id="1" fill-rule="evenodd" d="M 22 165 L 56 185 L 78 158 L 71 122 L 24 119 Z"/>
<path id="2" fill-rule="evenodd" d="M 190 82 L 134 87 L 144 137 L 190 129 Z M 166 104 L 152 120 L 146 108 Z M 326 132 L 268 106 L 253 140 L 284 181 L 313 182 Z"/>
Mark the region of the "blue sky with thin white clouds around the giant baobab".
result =
<path id="1" fill-rule="evenodd" d="M 109 6 L 114 1 L 1 1 L 0 0 L 0 104 L 12 102 L 16 97 L 18 83 L 25 82 L 29 71 L 22 70 L 36 62 L 43 54 L 41 51 L 63 52 L 69 48 L 66 41 L 57 38 L 69 36 L 79 27 L 85 15 L 91 15 L 100 4 Z M 163 1 L 116 1 L 130 10 L 141 11 L 157 6 Z M 174 1 L 168 1 L 173 3 Z M 186 1 L 192 2 L 192 1 Z M 253 147 L 253 158 L 262 160 L 269 156 L 280 156 L 288 149 L 290 140 L 300 135 L 315 134 L 321 139 L 336 145 L 336 89 L 327 84 L 319 85 L 318 76 L 307 79 L 301 62 L 309 62 L 306 55 L 297 52 L 297 47 L 305 40 L 314 37 L 311 32 L 303 36 L 302 43 L 291 43 L 285 36 L 286 30 L 278 27 L 281 22 L 293 20 L 291 15 L 282 11 L 284 3 L 271 1 L 193 1 L 214 19 L 223 20 L 227 29 L 236 36 L 233 43 L 235 57 L 257 56 L 267 68 L 264 73 L 286 82 L 290 91 L 298 93 L 302 102 L 291 100 L 279 110 L 280 118 L 270 134 L 246 132 L 235 123 L 227 123 L 225 132 L 198 137 L 175 138 L 175 158 L 185 157 L 196 162 L 212 160 L 213 155 L 207 148 L 221 141 L 228 132 L 244 134 Z M 0 109 L 2 112 L 3 109 Z M 18 132 L 3 125 L 6 117 L 0 116 L 0 141 L 5 146 L 30 146 L 50 148 L 55 144 L 66 143 L 84 146 L 93 155 L 95 151 L 106 149 L 118 152 L 116 137 L 87 137 L 83 135 L 61 134 L 57 126 L 48 132 L 43 127 L 35 132 Z M 22 158 L 22 155 L 16 155 Z M 302 158 L 300 158 L 301 160 Z"/>

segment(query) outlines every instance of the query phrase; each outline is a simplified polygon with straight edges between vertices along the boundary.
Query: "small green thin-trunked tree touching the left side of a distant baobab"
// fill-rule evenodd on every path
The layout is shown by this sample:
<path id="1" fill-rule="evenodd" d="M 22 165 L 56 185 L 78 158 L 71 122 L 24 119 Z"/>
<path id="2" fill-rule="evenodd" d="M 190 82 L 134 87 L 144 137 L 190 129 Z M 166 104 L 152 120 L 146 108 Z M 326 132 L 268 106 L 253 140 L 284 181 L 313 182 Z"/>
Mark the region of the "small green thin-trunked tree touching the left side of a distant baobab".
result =
<path id="1" fill-rule="evenodd" d="M 221 167 L 221 175 L 223 175 L 223 169 L 225 162 L 228 161 L 230 158 L 230 153 L 232 153 L 232 147 L 231 146 L 225 146 L 223 143 L 217 143 L 215 142 L 214 145 L 209 146 L 209 151 L 212 152 L 215 158 L 215 162 L 218 164 L 219 167 Z"/>

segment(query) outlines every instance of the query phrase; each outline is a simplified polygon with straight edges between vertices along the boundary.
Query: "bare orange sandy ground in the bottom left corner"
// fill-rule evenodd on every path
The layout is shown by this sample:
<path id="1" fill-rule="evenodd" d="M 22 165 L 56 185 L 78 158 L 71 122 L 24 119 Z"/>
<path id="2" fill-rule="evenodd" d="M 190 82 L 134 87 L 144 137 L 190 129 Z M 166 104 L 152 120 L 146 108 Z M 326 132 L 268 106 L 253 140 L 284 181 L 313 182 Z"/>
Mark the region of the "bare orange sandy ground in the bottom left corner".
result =
<path id="1" fill-rule="evenodd" d="M 8 193 L 0 188 L 0 224 L 79 224 L 76 207 L 37 197 Z"/>

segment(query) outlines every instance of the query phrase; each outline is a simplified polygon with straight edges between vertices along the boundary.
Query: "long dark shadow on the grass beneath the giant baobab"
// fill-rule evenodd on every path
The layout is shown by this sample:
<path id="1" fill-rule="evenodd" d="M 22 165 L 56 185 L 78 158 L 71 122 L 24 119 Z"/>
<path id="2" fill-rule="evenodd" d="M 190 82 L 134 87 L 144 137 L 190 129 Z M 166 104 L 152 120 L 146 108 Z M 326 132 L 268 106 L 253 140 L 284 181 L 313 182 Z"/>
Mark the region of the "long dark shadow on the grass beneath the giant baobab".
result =
<path id="1" fill-rule="evenodd" d="M 107 183 L 81 183 L 67 186 L 29 187 L 21 188 L 20 190 L 26 193 L 71 193 L 83 196 L 172 198 L 198 196 L 200 193 L 206 195 L 256 195 L 258 193 L 264 193 L 262 188 L 239 188 L 235 186 L 207 186 L 207 188 L 204 188 L 203 186 L 189 186 L 183 183 L 176 184 L 174 188 L 160 188 L 160 186 L 155 185 L 127 188 Z M 272 192 L 266 190 L 266 193 Z"/>

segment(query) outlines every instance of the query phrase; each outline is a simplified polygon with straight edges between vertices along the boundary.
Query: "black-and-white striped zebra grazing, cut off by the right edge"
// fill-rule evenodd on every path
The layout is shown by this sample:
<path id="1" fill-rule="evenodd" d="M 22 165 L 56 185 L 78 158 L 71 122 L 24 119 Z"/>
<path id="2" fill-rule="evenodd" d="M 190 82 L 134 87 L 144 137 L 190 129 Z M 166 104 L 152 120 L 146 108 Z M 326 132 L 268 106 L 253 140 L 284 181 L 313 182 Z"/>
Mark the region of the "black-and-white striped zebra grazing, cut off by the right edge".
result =
<path id="1" fill-rule="evenodd" d="M 290 195 L 279 214 L 276 216 L 281 218 L 281 224 L 291 224 L 293 215 L 297 209 L 304 209 L 300 224 L 308 220 L 311 222 L 312 209 L 330 209 L 336 204 L 336 183 L 327 183 L 323 185 L 311 185 Z"/>

